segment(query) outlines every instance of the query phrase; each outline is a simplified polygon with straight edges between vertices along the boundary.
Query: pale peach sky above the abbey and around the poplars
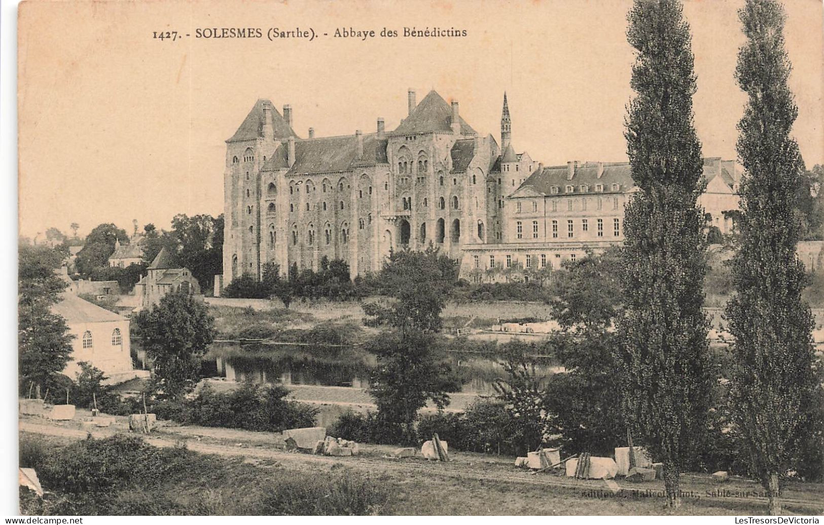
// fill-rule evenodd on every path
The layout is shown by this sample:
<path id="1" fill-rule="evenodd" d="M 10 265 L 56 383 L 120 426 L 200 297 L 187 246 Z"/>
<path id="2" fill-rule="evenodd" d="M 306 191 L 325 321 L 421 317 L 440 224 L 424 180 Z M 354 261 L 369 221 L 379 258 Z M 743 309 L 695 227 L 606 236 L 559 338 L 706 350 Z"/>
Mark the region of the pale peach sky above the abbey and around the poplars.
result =
<path id="1" fill-rule="evenodd" d="M 745 96 L 733 72 L 741 1 L 691 0 L 705 156 L 735 158 Z M 396 128 L 406 91 L 458 100 L 475 130 L 500 132 L 545 165 L 626 160 L 633 53 L 624 0 L 349 2 L 26 2 L 18 26 L 19 228 L 80 235 L 104 222 L 169 228 L 177 213 L 217 216 L 225 140 L 259 98 L 293 108 L 301 137 Z M 824 164 L 822 2 L 785 0 L 798 105 L 794 137 Z M 204 28 L 260 28 L 260 39 L 197 39 Z M 381 38 L 384 28 L 456 28 L 461 38 Z M 316 39 L 266 38 L 269 28 Z M 366 40 L 335 29 L 375 30 Z M 155 31 L 189 33 L 172 42 Z M 321 36 L 327 33 L 328 36 Z"/>

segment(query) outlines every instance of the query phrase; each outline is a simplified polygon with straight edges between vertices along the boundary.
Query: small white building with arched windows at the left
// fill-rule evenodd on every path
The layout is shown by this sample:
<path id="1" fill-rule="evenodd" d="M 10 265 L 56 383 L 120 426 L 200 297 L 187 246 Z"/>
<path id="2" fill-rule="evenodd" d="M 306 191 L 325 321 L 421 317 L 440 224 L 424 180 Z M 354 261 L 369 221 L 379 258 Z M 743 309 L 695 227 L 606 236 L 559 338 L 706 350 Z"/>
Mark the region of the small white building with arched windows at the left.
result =
<path id="1" fill-rule="evenodd" d="M 122 383 L 147 374 L 146 370 L 132 368 L 129 353 L 129 319 L 65 293 L 51 308 L 53 314 L 66 319 L 72 340 L 72 360 L 63 374 L 71 379 L 80 372 L 78 363 L 87 363 L 101 369 L 107 383 Z"/>

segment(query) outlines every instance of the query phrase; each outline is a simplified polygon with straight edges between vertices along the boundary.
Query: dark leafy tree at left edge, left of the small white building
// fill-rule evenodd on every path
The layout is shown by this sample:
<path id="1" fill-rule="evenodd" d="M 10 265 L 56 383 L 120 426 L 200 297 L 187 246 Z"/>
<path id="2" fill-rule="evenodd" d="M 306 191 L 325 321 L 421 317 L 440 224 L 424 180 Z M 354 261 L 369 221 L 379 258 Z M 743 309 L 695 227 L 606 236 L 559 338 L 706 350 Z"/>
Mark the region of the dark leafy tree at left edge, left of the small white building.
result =
<path id="1" fill-rule="evenodd" d="M 19 248 L 17 343 L 21 391 L 28 390 L 31 383 L 41 389 L 54 388 L 72 359 L 73 335 L 68 332 L 66 320 L 50 310 L 66 288 L 54 273 L 61 259 L 54 249 Z"/>

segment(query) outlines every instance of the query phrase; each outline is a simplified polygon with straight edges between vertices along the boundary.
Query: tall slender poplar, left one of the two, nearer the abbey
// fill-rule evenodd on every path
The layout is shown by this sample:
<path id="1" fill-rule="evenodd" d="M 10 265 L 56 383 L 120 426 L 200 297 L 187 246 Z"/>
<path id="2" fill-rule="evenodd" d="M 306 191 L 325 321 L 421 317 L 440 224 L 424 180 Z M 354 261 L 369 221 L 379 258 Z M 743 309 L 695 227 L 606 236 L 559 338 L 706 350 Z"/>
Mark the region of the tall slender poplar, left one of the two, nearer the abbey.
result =
<path id="1" fill-rule="evenodd" d="M 636 95 L 625 137 L 639 192 L 625 209 L 616 358 L 627 424 L 663 462 L 667 504 L 677 507 L 679 475 L 704 434 L 710 392 L 695 74 L 681 2 L 635 0 L 627 18 Z"/>

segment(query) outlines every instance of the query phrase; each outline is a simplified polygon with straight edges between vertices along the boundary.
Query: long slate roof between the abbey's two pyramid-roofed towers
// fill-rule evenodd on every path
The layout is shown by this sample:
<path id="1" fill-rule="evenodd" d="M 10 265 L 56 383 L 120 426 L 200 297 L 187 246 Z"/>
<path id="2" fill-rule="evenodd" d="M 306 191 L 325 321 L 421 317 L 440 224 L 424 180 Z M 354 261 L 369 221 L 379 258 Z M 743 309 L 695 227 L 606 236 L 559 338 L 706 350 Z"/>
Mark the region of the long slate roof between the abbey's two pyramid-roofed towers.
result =
<path id="1" fill-rule="evenodd" d="M 355 135 L 316 137 L 295 141 L 295 163 L 288 174 L 313 174 L 348 171 L 352 165 L 386 164 L 386 138 L 376 133 L 363 135 L 363 157 L 358 158 L 358 138 Z M 288 168 L 288 142 L 283 142 L 266 160 L 264 170 Z"/>

